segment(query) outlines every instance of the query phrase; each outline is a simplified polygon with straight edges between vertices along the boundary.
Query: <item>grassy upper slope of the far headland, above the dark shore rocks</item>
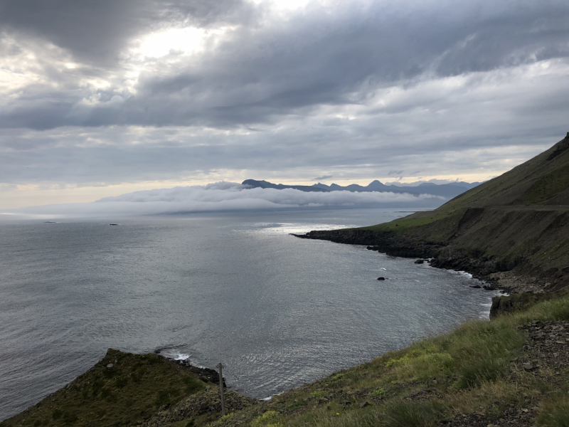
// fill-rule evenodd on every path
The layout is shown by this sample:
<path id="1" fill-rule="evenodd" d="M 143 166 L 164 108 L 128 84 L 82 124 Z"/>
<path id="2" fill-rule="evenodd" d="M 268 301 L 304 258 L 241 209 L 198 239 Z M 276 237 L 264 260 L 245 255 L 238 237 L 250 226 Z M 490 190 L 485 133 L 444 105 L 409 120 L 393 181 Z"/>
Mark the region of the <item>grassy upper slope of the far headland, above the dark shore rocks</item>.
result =
<path id="1" fill-rule="evenodd" d="M 392 231 L 421 241 L 526 260 L 541 270 L 568 266 L 569 138 L 435 211 L 363 230 Z"/>

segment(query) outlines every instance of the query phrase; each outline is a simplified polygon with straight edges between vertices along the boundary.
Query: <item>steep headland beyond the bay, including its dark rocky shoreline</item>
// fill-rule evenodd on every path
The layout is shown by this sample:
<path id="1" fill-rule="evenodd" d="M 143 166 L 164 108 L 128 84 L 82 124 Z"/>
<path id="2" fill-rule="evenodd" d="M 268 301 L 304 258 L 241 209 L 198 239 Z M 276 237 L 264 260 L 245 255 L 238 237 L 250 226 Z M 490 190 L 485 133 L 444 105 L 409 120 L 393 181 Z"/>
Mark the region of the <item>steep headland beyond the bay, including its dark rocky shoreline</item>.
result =
<path id="1" fill-rule="evenodd" d="M 432 258 L 437 267 L 500 280 L 511 292 L 564 288 L 569 284 L 569 132 L 546 152 L 434 211 L 299 237 Z"/>

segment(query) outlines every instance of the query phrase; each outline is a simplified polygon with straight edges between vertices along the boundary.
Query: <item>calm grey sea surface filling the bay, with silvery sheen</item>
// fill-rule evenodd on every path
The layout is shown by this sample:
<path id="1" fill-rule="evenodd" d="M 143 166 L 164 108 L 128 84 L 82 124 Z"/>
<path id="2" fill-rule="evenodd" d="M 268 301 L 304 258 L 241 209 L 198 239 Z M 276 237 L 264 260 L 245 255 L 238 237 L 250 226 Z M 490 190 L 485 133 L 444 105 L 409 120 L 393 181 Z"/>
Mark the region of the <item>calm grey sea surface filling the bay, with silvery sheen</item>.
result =
<path id="1" fill-rule="evenodd" d="M 0 420 L 109 347 L 223 362 L 228 385 L 264 398 L 487 317 L 493 294 L 468 275 L 289 235 L 407 214 L 0 222 Z"/>

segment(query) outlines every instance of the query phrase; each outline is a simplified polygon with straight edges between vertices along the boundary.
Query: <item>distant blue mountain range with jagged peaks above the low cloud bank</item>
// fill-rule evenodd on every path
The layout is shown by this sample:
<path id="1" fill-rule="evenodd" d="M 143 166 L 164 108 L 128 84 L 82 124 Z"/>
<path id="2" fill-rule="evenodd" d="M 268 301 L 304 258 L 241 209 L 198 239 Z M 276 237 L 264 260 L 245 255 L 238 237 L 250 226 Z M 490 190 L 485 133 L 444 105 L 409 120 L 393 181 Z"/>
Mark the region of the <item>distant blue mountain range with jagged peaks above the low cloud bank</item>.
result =
<path id="1" fill-rule="evenodd" d="M 408 193 L 408 194 L 433 194 L 435 196 L 442 196 L 449 199 L 456 197 L 459 194 L 464 193 L 469 189 L 474 188 L 479 185 L 479 182 L 453 182 L 452 184 L 432 184 L 431 182 L 425 182 L 418 186 L 395 186 L 395 185 L 385 185 L 382 184 L 377 179 L 371 181 L 370 184 L 366 186 L 361 186 L 358 184 L 350 184 L 346 186 L 341 186 L 338 184 L 314 184 L 309 185 L 285 185 L 285 184 L 272 184 L 269 181 L 257 181 L 255 179 L 245 179 L 241 184 L 248 185 L 251 188 L 262 188 L 262 189 L 297 189 L 300 191 L 378 191 L 385 192 L 390 191 L 391 193 Z"/>

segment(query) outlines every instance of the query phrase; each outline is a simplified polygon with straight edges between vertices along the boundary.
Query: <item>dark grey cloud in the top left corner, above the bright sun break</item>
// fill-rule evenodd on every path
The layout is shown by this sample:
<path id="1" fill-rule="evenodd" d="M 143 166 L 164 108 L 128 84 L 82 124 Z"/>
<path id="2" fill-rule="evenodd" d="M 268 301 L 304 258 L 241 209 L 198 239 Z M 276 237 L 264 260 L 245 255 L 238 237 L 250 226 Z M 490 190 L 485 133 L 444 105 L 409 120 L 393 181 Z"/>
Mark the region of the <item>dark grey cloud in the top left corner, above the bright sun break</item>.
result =
<path id="1" fill-rule="evenodd" d="M 172 21 L 208 26 L 243 19 L 240 0 L 6 0 L 0 28 L 68 49 L 85 63 L 112 65 L 129 39 Z"/>

